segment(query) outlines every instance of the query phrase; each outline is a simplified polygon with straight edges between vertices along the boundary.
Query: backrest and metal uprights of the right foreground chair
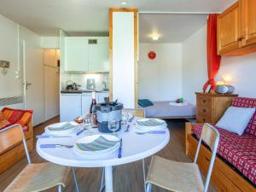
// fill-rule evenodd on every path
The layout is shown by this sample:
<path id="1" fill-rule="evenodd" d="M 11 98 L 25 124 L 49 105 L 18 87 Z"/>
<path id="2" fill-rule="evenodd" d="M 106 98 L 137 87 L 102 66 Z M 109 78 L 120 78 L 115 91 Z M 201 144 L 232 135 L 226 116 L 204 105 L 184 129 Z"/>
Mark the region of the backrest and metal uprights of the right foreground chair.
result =
<path id="1" fill-rule="evenodd" d="M 196 153 L 195 153 L 194 163 L 196 163 L 196 160 L 198 158 L 198 154 L 199 154 L 199 151 L 201 148 L 202 141 L 205 144 L 207 144 L 207 146 L 209 148 L 211 148 L 211 150 L 212 150 L 212 158 L 210 160 L 210 165 L 208 168 L 207 179 L 206 179 L 205 188 L 204 188 L 204 192 L 207 192 L 207 189 L 208 189 L 209 183 L 210 183 L 210 179 L 211 179 L 211 175 L 212 175 L 212 168 L 213 168 L 214 160 L 215 160 L 215 157 L 217 154 L 217 149 L 218 149 L 218 141 L 219 141 L 218 130 L 215 127 L 213 127 L 212 125 L 209 125 L 209 124 L 203 125 L 202 131 L 201 131 L 201 137 L 199 139 L 198 146 L 197 146 Z"/>

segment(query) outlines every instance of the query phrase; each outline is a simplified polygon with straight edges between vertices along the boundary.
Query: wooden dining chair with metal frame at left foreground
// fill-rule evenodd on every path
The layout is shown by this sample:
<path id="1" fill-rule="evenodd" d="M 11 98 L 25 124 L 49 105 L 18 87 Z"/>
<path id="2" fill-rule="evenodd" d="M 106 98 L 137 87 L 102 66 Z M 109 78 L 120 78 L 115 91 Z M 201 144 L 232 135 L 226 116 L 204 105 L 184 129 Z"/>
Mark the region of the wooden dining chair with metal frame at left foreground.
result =
<path id="1" fill-rule="evenodd" d="M 4 189 L 4 192 L 34 192 L 50 189 L 55 186 L 61 192 L 66 186 L 67 174 L 70 168 L 52 163 L 32 164 L 26 138 L 20 125 L 12 125 L 0 131 L 0 154 L 4 153 L 15 143 L 23 142 L 28 165 L 15 177 L 15 180 Z"/>

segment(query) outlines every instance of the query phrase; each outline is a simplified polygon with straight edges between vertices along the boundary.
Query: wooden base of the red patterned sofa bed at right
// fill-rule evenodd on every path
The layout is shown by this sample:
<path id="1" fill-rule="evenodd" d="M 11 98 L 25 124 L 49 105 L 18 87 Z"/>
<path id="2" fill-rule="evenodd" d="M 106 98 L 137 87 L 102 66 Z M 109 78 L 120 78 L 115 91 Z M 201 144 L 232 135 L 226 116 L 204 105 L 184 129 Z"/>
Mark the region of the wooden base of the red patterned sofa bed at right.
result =
<path id="1" fill-rule="evenodd" d="M 198 144 L 198 141 L 195 137 L 192 137 L 192 124 L 186 123 L 185 131 L 185 141 L 186 141 L 186 154 L 194 160 L 195 151 Z M 212 152 L 201 145 L 201 150 L 198 156 L 197 164 L 201 169 L 201 172 L 206 175 L 208 170 L 208 165 L 211 160 Z M 239 173 L 234 171 L 228 164 L 223 160 L 216 157 L 215 163 L 212 170 L 211 183 L 215 189 L 219 192 L 255 192 L 256 189 L 253 185 L 244 177 L 241 177 Z"/>

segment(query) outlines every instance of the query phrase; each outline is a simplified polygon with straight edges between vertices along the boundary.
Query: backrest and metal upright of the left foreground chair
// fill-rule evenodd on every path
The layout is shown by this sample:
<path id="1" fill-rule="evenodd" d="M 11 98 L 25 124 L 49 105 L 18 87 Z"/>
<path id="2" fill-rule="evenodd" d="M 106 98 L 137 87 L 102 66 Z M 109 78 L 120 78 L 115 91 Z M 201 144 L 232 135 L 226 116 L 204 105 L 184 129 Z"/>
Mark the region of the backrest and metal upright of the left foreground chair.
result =
<path id="1" fill-rule="evenodd" d="M 31 160 L 26 146 L 26 138 L 24 136 L 21 125 L 11 125 L 4 128 L 3 130 L 0 130 L 0 154 L 3 154 L 9 150 L 9 148 L 12 148 L 15 146 L 15 144 L 20 142 L 23 142 L 24 144 L 26 158 L 30 164 Z"/>

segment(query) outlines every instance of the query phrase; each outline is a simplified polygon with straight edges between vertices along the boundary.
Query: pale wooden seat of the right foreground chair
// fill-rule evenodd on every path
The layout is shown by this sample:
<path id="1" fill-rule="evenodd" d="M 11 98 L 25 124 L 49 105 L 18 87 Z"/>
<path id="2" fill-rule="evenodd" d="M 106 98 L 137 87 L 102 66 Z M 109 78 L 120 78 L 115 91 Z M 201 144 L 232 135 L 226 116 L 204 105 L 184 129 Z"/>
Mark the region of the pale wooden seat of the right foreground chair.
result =
<path id="1" fill-rule="evenodd" d="M 174 192 L 201 192 L 204 190 L 199 167 L 153 156 L 146 183 Z"/>

